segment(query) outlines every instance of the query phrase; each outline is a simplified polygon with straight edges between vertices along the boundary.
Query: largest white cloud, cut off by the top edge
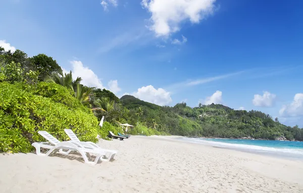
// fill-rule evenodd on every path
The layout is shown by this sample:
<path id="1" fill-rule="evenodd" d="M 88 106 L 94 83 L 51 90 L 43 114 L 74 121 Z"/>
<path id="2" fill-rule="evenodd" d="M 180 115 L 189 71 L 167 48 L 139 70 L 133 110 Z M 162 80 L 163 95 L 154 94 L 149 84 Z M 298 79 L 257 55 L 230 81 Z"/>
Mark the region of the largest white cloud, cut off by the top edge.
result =
<path id="1" fill-rule="evenodd" d="M 150 30 L 157 36 L 167 36 L 180 30 L 180 23 L 200 20 L 214 11 L 216 0 L 142 0 L 141 5 L 150 12 Z"/>

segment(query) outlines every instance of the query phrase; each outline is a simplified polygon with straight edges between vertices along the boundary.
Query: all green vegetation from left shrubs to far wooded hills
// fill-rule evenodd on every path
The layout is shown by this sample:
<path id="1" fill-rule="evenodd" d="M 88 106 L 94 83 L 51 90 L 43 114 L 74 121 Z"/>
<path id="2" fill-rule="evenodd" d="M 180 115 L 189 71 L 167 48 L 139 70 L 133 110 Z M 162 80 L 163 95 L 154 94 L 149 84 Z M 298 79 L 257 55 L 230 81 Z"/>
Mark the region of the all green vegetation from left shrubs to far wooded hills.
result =
<path id="1" fill-rule="evenodd" d="M 256 138 L 303 141 L 298 126 L 281 124 L 260 111 L 233 110 L 211 104 L 191 108 L 186 103 L 158 106 L 106 89 L 81 85 L 82 79 L 63 74 L 56 60 L 45 54 L 28 57 L 0 47 L 0 151 L 29 152 L 31 143 L 43 141 L 45 130 L 68 140 L 71 128 L 80 140 L 107 139 L 109 131 L 123 132 L 121 123 L 134 125 L 132 135 Z M 105 116 L 102 128 L 98 121 Z"/>

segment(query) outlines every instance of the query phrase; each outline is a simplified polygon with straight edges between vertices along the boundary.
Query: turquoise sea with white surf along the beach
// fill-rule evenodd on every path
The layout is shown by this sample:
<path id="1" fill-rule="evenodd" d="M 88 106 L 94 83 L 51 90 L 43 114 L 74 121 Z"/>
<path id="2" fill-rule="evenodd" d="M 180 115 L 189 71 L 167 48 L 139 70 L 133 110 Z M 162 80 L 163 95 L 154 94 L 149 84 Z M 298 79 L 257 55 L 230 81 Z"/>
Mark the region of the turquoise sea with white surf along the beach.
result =
<path id="1" fill-rule="evenodd" d="M 210 145 L 217 148 L 303 160 L 303 142 L 204 138 L 181 138 L 180 140 L 189 143 Z"/>

